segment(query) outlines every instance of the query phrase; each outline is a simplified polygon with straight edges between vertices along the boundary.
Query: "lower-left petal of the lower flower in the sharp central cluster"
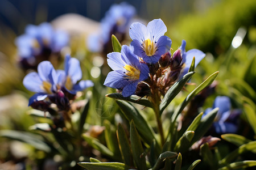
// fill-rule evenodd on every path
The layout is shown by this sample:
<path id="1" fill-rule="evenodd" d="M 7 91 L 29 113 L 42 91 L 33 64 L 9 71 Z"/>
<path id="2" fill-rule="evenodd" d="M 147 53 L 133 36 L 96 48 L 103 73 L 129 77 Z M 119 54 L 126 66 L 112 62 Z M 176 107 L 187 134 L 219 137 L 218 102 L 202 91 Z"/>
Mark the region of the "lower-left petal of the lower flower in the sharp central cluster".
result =
<path id="1" fill-rule="evenodd" d="M 129 83 L 123 76 L 123 74 L 117 71 L 110 71 L 105 79 L 104 85 L 111 88 L 123 88 Z"/>

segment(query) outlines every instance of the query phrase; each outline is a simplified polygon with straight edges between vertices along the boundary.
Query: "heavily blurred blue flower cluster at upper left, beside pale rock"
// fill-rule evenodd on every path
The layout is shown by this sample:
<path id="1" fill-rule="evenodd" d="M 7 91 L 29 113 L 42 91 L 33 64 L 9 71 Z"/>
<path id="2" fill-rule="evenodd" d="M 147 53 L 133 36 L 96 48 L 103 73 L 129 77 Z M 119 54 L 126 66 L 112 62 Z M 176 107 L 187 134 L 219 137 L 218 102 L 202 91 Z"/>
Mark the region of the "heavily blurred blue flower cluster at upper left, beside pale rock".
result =
<path id="1" fill-rule="evenodd" d="M 27 25 L 24 35 L 16 38 L 19 62 L 24 69 L 36 69 L 42 61 L 59 60 L 60 50 L 69 43 L 69 35 L 49 23 Z"/>

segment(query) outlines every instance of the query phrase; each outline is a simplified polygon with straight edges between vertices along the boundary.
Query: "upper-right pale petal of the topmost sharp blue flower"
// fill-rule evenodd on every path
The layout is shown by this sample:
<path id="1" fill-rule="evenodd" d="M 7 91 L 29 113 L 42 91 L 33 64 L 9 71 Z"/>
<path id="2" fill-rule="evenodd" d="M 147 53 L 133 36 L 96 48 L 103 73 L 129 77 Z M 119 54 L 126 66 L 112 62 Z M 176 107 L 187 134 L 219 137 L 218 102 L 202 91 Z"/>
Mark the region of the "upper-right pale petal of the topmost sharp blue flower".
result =
<path id="1" fill-rule="evenodd" d="M 147 24 L 148 37 L 151 41 L 158 41 L 167 31 L 167 27 L 162 19 L 154 19 Z"/>

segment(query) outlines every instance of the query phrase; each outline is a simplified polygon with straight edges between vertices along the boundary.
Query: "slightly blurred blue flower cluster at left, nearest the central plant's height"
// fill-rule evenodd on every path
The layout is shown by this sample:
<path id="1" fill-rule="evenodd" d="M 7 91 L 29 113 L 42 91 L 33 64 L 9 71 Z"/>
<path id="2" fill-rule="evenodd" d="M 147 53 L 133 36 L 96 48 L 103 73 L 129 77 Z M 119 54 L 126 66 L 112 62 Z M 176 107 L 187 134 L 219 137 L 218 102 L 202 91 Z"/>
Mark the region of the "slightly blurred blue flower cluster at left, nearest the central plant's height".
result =
<path id="1" fill-rule="evenodd" d="M 28 105 L 40 111 L 55 114 L 51 104 L 56 104 L 57 112 L 70 112 L 76 93 L 92 87 L 91 80 L 81 80 L 80 62 L 67 55 L 65 69 L 55 70 L 51 62 L 43 61 L 38 65 L 38 73 L 28 73 L 23 84 L 35 95 L 30 97 Z"/>

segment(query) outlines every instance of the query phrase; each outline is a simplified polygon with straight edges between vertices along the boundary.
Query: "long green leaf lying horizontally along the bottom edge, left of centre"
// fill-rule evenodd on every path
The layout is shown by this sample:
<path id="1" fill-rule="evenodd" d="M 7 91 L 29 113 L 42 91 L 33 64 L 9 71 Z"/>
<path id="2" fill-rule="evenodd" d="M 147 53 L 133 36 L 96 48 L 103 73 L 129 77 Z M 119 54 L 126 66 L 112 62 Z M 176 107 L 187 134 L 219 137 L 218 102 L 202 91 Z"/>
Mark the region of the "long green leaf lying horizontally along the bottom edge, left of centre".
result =
<path id="1" fill-rule="evenodd" d="M 87 163 L 87 162 L 80 162 L 77 163 L 81 167 L 87 170 L 128 170 L 130 169 L 129 166 L 119 163 L 119 162 L 106 162 L 106 163 Z"/>

